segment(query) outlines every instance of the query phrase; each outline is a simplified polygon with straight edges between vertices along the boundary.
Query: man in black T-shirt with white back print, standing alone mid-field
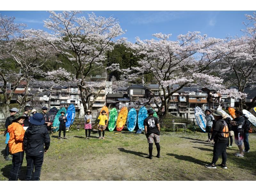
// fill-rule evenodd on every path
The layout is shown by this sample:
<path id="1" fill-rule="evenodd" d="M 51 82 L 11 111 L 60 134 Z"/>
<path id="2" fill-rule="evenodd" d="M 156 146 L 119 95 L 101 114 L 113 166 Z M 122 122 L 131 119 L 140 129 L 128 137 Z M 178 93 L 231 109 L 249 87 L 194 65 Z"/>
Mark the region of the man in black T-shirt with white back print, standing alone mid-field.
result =
<path id="1" fill-rule="evenodd" d="M 143 125 L 145 130 L 145 135 L 148 139 L 148 152 L 149 152 L 149 159 L 152 159 L 152 151 L 153 151 L 153 142 L 155 142 L 156 149 L 157 149 L 157 158 L 160 158 L 160 125 L 159 119 L 154 117 L 153 114 L 155 111 L 153 109 L 148 110 L 148 117 L 144 119 Z"/>

